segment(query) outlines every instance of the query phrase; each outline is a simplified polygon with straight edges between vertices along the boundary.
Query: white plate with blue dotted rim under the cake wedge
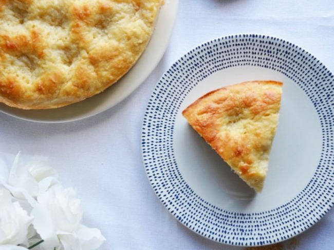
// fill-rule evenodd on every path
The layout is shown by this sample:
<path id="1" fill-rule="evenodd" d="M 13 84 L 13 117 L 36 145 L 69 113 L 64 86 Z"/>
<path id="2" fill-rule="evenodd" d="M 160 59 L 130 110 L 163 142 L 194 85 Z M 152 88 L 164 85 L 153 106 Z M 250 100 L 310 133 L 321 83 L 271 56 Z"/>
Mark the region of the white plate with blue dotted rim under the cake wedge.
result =
<path id="1" fill-rule="evenodd" d="M 264 190 L 255 194 L 181 112 L 203 94 L 249 80 L 284 82 Z M 288 41 L 233 35 L 202 44 L 166 71 L 149 100 L 142 155 L 152 187 L 182 224 L 231 245 L 280 242 L 319 221 L 334 201 L 334 82 Z"/>

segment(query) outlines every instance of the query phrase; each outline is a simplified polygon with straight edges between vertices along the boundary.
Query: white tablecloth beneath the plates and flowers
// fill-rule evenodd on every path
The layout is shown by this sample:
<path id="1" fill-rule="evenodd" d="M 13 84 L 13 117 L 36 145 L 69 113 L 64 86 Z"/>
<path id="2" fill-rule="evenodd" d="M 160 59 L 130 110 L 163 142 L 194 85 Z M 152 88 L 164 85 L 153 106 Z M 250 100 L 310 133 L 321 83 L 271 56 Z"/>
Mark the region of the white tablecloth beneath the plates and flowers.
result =
<path id="1" fill-rule="evenodd" d="M 0 156 L 9 159 L 21 151 L 48 157 L 64 186 L 77 190 L 84 223 L 105 236 L 100 249 L 243 249 L 203 238 L 180 224 L 156 197 L 140 149 L 144 111 L 161 75 L 194 47 L 239 33 L 288 40 L 334 72 L 331 0 L 180 0 L 168 49 L 131 96 L 101 114 L 66 123 L 36 123 L 0 113 Z M 274 249 L 333 249 L 333 232 L 331 210 Z"/>

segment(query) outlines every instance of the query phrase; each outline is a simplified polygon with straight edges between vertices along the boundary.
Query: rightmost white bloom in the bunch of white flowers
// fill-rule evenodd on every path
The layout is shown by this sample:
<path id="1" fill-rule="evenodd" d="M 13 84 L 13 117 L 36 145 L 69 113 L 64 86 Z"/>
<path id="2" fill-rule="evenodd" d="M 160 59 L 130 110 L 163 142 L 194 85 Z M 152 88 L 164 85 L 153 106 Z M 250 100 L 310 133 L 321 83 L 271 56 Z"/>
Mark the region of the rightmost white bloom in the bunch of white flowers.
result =
<path id="1" fill-rule="evenodd" d="M 72 188 L 52 185 L 37 200 L 31 214 L 36 231 L 44 239 L 41 247 L 53 249 L 61 244 L 64 250 L 89 250 L 105 240 L 99 230 L 81 224 L 81 204 Z"/>

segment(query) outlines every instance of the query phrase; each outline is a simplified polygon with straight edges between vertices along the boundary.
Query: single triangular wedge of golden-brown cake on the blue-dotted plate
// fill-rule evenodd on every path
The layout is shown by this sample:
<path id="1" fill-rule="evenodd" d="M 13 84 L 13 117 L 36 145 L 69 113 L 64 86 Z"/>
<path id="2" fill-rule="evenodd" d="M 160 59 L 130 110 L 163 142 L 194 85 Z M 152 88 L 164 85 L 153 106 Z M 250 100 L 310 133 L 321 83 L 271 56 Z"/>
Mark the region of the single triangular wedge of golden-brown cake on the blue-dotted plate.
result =
<path id="1" fill-rule="evenodd" d="M 248 81 L 207 93 L 182 114 L 251 188 L 261 192 L 279 122 L 283 83 Z"/>

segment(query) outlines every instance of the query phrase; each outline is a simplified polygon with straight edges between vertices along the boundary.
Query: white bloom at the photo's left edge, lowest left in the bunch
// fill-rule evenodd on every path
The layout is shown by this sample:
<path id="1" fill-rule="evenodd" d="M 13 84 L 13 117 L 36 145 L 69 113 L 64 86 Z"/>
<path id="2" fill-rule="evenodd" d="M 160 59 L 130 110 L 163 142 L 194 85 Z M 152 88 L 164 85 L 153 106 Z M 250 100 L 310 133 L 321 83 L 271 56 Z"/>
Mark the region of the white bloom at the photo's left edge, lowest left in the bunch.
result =
<path id="1" fill-rule="evenodd" d="M 8 190 L 0 189 L 0 245 L 25 243 L 30 223 L 31 217 L 20 203 L 12 202 Z"/>

